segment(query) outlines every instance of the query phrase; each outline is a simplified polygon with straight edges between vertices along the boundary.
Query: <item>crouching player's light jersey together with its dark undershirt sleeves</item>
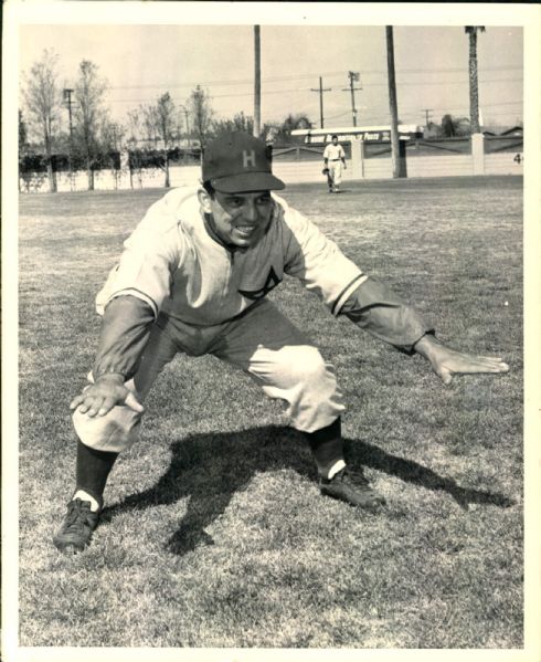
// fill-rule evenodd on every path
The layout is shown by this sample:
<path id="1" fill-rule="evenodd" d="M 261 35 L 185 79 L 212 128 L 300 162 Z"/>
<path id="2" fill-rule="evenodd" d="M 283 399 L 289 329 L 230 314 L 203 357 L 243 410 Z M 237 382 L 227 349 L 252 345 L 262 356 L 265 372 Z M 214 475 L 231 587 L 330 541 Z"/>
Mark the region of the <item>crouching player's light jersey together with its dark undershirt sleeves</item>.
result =
<path id="1" fill-rule="evenodd" d="M 404 301 L 368 277 L 319 229 L 278 197 L 263 239 L 231 250 L 205 222 L 198 189 L 170 191 L 155 202 L 125 242 L 119 264 L 96 297 L 107 314 L 93 375 L 130 376 L 152 321 L 212 327 L 255 308 L 285 274 L 298 277 L 335 315 L 407 353 L 432 330 Z M 135 298 L 134 298 L 135 297 Z M 130 303 L 130 301 L 131 303 Z M 115 306 L 108 306 L 114 301 Z M 138 305 L 134 305 L 138 302 Z"/>

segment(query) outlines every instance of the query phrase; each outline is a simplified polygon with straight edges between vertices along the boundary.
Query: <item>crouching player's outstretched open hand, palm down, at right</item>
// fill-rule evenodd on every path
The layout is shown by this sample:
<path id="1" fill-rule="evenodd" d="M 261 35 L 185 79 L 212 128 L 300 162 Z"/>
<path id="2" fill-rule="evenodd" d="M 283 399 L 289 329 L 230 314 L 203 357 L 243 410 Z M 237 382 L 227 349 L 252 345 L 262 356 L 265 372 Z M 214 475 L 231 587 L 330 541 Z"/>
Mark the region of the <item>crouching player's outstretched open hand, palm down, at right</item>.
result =
<path id="1" fill-rule="evenodd" d="M 442 378 L 445 385 L 450 383 L 453 376 L 458 374 L 507 372 L 509 370 L 509 366 L 499 357 L 456 351 L 429 334 L 423 336 L 414 349 L 431 361 L 434 372 Z"/>

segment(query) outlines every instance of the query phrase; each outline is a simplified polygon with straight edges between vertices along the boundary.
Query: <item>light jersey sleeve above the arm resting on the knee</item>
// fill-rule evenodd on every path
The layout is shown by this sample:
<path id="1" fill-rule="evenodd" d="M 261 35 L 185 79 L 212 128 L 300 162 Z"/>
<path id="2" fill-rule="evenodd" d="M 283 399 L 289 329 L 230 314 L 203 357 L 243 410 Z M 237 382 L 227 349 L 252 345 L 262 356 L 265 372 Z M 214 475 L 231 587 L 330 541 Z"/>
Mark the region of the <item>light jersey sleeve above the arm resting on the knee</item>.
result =
<path id="1" fill-rule="evenodd" d="M 119 263 L 96 296 L 96 309 L 103 315 L 113 298 L 129 294 L 148 304 L 157 317 L 184 251 L 176 207 L 167 196 L 150 207 L 124 246 Z"/>

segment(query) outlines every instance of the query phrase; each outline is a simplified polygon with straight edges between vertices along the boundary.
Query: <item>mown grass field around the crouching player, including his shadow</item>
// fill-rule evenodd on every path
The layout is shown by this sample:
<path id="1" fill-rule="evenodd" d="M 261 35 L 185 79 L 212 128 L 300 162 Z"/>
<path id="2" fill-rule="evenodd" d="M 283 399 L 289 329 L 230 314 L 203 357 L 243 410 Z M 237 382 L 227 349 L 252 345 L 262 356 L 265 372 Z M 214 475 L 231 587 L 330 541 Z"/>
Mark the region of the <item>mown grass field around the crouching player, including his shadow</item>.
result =
<path id="1" fill-rule="evenodd" d="M 335 321 L 296 282 L 273 293 L 337 367 L 348 458 L 367 465 L 385 512 L 320 496 L 276 402 L 212 357 L 178 357 L 110 476 L 92 546 L 57 554 L 94 296 L 162 193 L 20 200 L 20 645 L 520 648 L 519 178 L 284 193 L 444 341 L 511 367 L 444 387 L 424 359 Z"/>

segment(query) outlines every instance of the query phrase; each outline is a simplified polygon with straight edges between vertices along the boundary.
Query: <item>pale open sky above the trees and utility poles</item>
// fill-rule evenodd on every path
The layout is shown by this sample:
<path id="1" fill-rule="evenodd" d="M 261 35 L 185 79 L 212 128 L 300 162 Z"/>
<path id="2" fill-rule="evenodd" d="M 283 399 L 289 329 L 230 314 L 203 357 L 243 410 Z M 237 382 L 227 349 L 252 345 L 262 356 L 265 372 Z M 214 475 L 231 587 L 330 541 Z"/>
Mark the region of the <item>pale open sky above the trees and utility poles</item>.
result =
<path id="1" fill-rule="evenodd" d="M 93 3 L 102 11 L 107 3 Z M 127 3 L 129 4 L 129 3 Z M 205 3 L 200 3 L 205 4 Z M 242 3 L 233 3 L 242 4 Z M 359 6 L 360 7 L 360 6 Z M 423 4 L 417 6 L 418 23 Z M 102 11 L 102 13 L 103 13 Z M 333 12 L 328 11 L 329 22 Z M 82 60 L 91 60 L 107 80 L 112 118 L 126 123 L 127 112 L 169 92 L 177 105 L 201 85 L 218 118 L 254 114 L 254 32 L 237 24 L 119 24 L 110 22 L 21 24 L 21 75 L 43 49 L 60 56 L 60 82 L 73 87 Z M 262 24 L 262 123 L 306 114 L 319 126 L 319 76 L 326 127 L 351 126 L 348 72 L 358 72 L 356 106 L 360 126 L 390 123 L 384 24 L 365 25 L 359 11 L 350 24 Z M 121 21 L 121 18 L 120 18 Z M 231 19 L 230 19 L 231 21 Z M 284 21 L 284 19 L 282 19 Z M 243 24 L 244 23 L 244 24 Z M 399 117 L 404 124 L 439 123 L 445 113 L 468 116 L 468 38 L 464 25 L 394 27 Z M 520 25 L 487 25 L 478 38 L 481 116 L 485 125 L 513 125 L 523 112 L 523 34 Z M 23 80 L 23 78 L 21 78 Z M 427 113 L 428 111 L 428 113 Z M 67 122 L 67 113 L 66 113 Z"/>

